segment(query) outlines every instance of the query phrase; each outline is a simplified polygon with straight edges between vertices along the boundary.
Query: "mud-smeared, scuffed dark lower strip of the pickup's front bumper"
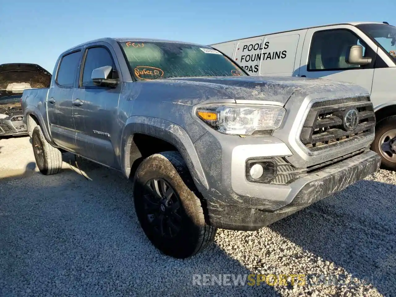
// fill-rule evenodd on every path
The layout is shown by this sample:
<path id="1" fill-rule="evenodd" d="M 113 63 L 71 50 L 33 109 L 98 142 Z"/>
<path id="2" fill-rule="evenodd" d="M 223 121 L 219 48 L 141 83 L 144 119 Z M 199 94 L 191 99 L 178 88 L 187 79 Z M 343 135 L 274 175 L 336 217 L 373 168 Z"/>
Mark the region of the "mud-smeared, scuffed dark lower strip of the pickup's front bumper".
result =
<path id="1" fill-rule="evenodd" d="M 356 158 L 351 158 L 345 160 L 343 164 L 335 164 L 323 169 L 318 173 L 323 177 L 309 181 L 301 188 L 290 204 L 272 212 L 249 208 L 247 204 L 241 207 L 240 205 L 221 203 L 214 205 L 208 202 L 210 223 L 218 228 L 244 231 L 254 231 L 266 227 L 331 194 L 340 192 L 377 171 L 381 164 L 381 158 L 371 151 L 368 151 L 367 154 L 369 156 L 362 156 L 360 162 Z M 343 169 L 340 169 L 340 167 Z M 316 173 L 311 174 L 316 175 Z M 262 201 L 263 205 L 272 202 L 266 199 L 262 199 Z"/>

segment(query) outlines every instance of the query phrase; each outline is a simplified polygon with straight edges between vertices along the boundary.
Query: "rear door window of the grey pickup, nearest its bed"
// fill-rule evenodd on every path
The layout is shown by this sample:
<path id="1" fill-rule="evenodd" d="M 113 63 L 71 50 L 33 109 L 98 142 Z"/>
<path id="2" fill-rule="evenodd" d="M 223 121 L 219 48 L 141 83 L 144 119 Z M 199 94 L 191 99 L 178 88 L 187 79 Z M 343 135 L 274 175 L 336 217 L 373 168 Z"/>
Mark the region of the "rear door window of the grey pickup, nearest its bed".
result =
<path id="1" fill-rule="evenodd" d="M 59 86 L 73 88 L 74 76 L 78 67 L 78 61 L 80 60 L 80 53 L 81 51 L 76 51 L 63 56 L 56 77 L 56 82 Z"/>

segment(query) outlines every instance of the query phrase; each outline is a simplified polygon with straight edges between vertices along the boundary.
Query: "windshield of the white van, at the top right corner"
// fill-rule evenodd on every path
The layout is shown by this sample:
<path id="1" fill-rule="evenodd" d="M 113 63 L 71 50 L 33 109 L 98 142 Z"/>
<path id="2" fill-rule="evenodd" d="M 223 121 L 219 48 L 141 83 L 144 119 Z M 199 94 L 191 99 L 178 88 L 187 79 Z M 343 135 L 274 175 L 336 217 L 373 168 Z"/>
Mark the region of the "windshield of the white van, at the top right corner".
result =
<path id="1" fill-rule="evenodd" d="M 396 61 L 396 27 L 385 24 L 362 24 L 357 27 L 374 38 Z"/>

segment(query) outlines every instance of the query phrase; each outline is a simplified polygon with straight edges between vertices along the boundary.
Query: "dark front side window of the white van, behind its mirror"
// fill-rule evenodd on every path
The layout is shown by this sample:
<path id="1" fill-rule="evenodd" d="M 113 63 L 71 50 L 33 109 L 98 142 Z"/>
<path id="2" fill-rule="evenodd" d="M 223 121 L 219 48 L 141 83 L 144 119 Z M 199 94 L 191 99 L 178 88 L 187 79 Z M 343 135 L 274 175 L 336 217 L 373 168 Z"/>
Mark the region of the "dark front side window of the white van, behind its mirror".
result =
<path id="1" fill-rule="evenodd" d="M 307 70 L 340 70 L 359 68 L 361 65 L 351 65 L 345 61 L 350 46 L 363 46 L 366 55 L 366 44 L 353 32 L 346 29 L 315 32 L 309 53 Z"/>

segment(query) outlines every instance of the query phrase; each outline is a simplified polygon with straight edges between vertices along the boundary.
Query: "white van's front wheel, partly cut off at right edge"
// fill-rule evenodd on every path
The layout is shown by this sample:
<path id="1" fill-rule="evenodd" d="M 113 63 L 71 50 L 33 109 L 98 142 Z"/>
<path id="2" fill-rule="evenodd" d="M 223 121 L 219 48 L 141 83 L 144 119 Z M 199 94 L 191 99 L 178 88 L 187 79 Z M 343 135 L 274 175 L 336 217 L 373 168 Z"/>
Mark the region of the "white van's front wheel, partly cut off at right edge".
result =
<path id="1" fill-rule="evenodd" d="M 377 123 L 371 150 L 381 156 L 381 167 L 396 170 L 396 116 Z"/>

